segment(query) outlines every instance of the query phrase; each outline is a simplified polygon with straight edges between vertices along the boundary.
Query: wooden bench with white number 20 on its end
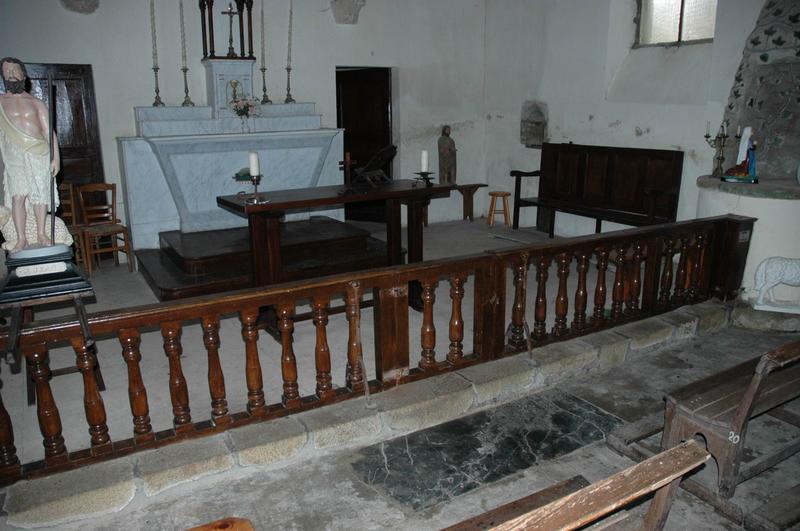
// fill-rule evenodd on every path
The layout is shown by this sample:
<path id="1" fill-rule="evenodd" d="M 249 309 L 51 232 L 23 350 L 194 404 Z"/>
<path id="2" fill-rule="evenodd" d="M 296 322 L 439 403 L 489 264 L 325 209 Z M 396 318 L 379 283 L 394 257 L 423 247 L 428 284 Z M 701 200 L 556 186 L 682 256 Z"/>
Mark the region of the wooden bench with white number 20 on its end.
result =
<path id="1" fill-rule="evenodd" d="M 719 467 L 719 493 L 730 498 L 736 485 L 800 451 L 798 439 L 740 466 L 750 419 L 768 413 L 800 427 L 799 415 L 779 408 L 800 396 L 798 360 L 800 341 L 794 341 L 670 393 L 662 448 L 701 434 Z"/>

